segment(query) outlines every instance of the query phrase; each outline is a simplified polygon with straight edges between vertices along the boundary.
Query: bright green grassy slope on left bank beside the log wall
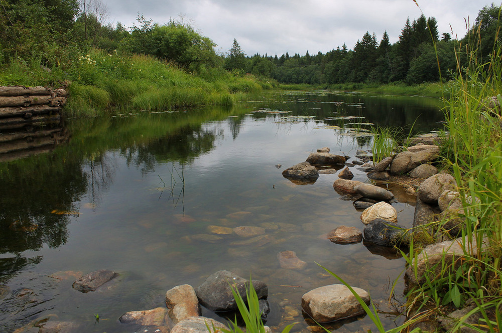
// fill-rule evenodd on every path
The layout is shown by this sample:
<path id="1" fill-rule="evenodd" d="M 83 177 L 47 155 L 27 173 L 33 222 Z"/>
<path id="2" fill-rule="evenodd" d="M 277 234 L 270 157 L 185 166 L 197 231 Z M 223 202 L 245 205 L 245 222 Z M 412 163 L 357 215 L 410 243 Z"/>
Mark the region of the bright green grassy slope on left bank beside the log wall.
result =
<path id="1" fill-rule="evenodd" d="M 161 111 L 199 105 L 232 105 L 276 86 L 253 75 L 234 76 L 222 68 L 189 73 L 151 56 L 121 55 L 93 49 L 66 70 L 43 69 L 21 60 L 0 71 L 0 85 L 52 86 L 69 83 L 69 117 Z"/>

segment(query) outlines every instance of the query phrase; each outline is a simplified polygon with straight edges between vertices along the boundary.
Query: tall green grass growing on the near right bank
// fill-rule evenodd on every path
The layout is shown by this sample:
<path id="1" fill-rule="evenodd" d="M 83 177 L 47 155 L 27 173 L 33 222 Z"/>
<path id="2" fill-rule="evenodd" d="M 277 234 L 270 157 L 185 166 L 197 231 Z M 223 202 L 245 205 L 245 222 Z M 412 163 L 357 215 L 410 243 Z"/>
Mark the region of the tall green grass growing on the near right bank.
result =
<path id="1" fill-rule="evenodd" d="M 489 61 L 482 63 L 477 59 L 479 44 L 474 43 L 478 32 L 471 31 L 472 36 L 468 36 L 471 42 L 467 46 L 459 44 L 456 50 L 454 80 L 443 86 L 446 128 L 441 148 L 462 201 L 462 210 L 458 212 L 463 221 L 459 245 L 464 253 L 453 259 L 443 255 L 442 260 L 417 279 L 418 283 L 409 285 L 407 313 L 427 313 L 435 319 L 469 304 L 472 309 L 454 319 L 449 332 L 464 327 L 478 332 L 501 332 L 502 43 L 496 43 Z M 375 134 L 382 132 L 376 130 Z M 394 145 L 389 139 L 375 136 L 375 140 L 380 150 Z M 439 221 L 438 227 L 447 219 Z M 412 242 L 409 254 L 403 253 L 415 275 L 418 275 L 419 251 Z M 365 310 L 383 332 L 378 312 L 369 307 Z M 468 323 L 472 314 L 480 317 L 478 322 Z M 409 329 L 420 320 L 409 318 L 388 332 Z"/>

